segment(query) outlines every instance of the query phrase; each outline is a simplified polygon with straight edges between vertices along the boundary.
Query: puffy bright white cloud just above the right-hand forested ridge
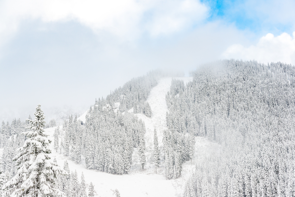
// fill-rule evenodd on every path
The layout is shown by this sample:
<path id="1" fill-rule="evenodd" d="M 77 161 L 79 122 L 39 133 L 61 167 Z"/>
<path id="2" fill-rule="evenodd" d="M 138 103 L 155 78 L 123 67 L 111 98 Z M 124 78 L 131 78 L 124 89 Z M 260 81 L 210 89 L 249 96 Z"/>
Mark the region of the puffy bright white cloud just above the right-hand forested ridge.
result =
<path id="1" fill-rule="evenodd" d="M 277 37 L 268 33 L 261 37 L 255 46 L 231 45 L 222 54 L 222 57 L 243 60 L 255 59 L 264 63 L 281 61 L 295 65 L 295 32 L 293 32 L 293 38 L 287 33 L 282 33 Z"/>

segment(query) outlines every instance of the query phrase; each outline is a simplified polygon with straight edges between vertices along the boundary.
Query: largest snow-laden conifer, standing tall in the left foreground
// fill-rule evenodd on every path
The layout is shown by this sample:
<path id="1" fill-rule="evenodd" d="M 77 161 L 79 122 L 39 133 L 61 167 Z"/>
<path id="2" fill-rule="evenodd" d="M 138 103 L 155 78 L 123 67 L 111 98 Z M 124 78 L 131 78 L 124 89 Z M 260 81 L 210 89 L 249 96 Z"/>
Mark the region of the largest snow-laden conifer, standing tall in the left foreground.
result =
<path id="1" fill-rule="evenodd" d="M 50 160 L 51 141 L 44 134 L 45 116 L 41 106 L 36 107 L 35 120 L 29 120 L 29 131 L 23 132 L 27 140 L 14 157 L 17 173 L 5 185 L 4 196 L 53 197 L 65 196 L 55 188 L 54 179 L 58 173 L 66 173 L 57 163 Z"/>

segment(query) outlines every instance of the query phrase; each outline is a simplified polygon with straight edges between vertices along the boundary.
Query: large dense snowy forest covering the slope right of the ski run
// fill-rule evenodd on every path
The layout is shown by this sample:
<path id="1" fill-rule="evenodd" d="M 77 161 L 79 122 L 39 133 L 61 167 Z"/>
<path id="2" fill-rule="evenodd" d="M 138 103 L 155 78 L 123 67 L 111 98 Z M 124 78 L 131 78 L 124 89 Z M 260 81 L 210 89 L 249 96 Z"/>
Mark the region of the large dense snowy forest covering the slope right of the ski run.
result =
<path id="1" fill-rule="evenodd" d="M 186 86 L 173 80 L 166 98 L 167 178 L 191 157 L 194 136 L 206 135 L 222 152 L 196 166 L 184 197 L 294 197 L 295 68 L 223 60 L 192 74 Z"/>

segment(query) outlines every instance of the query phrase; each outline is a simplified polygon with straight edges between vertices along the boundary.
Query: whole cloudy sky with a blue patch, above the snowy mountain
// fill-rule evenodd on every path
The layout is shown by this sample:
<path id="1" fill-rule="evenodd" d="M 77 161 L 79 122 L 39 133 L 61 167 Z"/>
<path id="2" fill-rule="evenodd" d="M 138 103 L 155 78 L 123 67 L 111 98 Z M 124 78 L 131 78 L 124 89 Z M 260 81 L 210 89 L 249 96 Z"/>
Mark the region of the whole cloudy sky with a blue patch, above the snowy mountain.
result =
<path id="1" fill-rule="evenodd" d="M 219 59 L 295 65 L 295 1 L 2 0 L 0 121 L 83 114 L 150 70 Z"/>

